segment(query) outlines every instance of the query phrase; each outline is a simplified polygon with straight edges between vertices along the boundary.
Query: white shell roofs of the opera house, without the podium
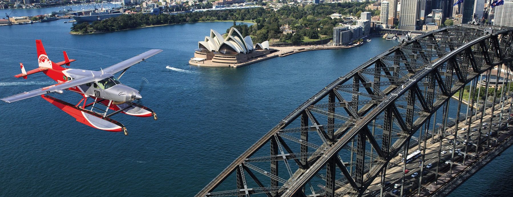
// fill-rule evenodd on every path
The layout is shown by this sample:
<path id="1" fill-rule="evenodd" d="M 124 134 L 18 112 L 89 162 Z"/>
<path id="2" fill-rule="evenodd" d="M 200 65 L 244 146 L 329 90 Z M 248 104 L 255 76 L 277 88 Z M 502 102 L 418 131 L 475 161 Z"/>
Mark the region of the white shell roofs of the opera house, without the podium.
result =
<path id="1" fill-rule="evenodd" d="M 235 28 L 231 28 L 226 38 L 211 29 L 210 36 L 205 36 L 204 41 L 198 42 L 200 50 L 220 52 L 224 54 L 247 54 L 255 49 L 269 49 L 269 42 L 257 43 L 253 46 L 253 41 L 248 35 L 242 37 L 242 34 Z"/>

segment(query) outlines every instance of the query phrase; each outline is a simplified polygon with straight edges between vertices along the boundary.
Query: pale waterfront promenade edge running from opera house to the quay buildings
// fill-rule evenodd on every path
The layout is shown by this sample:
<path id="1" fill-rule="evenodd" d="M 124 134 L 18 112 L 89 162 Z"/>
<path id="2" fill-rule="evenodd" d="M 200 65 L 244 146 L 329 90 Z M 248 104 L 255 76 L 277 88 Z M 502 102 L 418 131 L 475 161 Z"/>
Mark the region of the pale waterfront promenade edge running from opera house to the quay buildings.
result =
<path id="1" fill-rule="evenodd" d="M 191 58 L 191 60 L 189 60 L 189 64 L 193 65 L 193 66 L 203 66 L 203 67 L 233 67 L 233 68 L 239 68 L 239 67 L 247 66 L 247 65 L 250 65 L 250 64 L 253 64 L 253 63 L 262 62 L 264 60 L 269 60 L 269 59 L 274 58 L 274 57 L 284 57 L 284 56 L 287 56 L 287 55 L 291 55 L 291 54 L 295 54 L 295 53 L 300 53 L 300 52 L 305 52 L 305 51 L 327 50 L 327 49 L 348 49 L 348 48 L 358 47 L 358 46 L 361 46 L 361 45 L 362 44 L 360 44 L 360 45 L 351 45 L 351 46 L 316 45 L 316 46 L 273 47 L 271 49 L 275 49 L 275 50 L 278 50 L 278 51 L 274 52 L 274 53 L 271 53 L 268 56 L 259 57 L 259 58 L 256 58 L 254 60 L 250 60 L 250 61 L 239 63 L 239 64 L 222 64 L 222 63 L 212 64 L 210 62 L 205 64 L 205 61 L 203 61 L 203 63 L 192 62 L 192 58 Z"/>

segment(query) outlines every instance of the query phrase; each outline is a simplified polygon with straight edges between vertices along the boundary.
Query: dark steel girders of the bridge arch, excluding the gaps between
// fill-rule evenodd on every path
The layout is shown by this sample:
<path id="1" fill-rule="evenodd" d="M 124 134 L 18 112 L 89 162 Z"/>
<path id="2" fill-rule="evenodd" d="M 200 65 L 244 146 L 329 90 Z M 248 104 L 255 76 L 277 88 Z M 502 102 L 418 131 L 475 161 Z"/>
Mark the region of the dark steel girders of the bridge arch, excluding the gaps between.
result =
<path id="1" fill-rule="evenodd" d="M 238 176 L 239 184 L 232 188 L 237 188 L 240 191 L 246 189 L 245 193 L 239 192 L 236 195 L 249 195 L 258 190 L 259 192 L 266 193 L 268 196 L 308 196 L 310 194 L 305 193 L 305 187 L 309 184 L 310 180 L 316 176 L 318 177 L 318 173 L 324 168 L 326 168 L 327 174 L 326 176 L 322 175 L 322 177 L 326 177 L 326 185 L 322 186 L 321 189 L 325 190 L 325 193 L 324 191 L 314 191 L 310 185 L 312 196 L 318 196 L 319 194 L 327 196 L 340 194 L 362 195 L 372 181 L 380 173 L 385 172 L 392 158 L 399 153 L 405 144 L 408 144 L 407 142 L 409 142 L 413 134 L 431 118 L 431 115 L 435 114 L 441 106 L 447 103 L 453 94 L 480 74 L 491 70 L 495 66 L 504 63 L 511 65 L 509 63 L 513 61 L 513 47 L 511 47 L 513 28 L 494 28 L 491 33 L 486 33 L 484 29 L 480 28 L 483 27 L 469 25 L 446 27 L 417 36 L 412 41 L 403 42 L 398 46 L 392 47 L 344 76 L 337 78 L 336 81 L 324 87 L 287 115 L 277 126 L 266 133 L 257 143 L 253 144 L 196 194 L 196 197 L 223 193 L 214 190 L 233 172 Z M 451 35 L 454 37 L 451 37 Z M 401 54 L 404 55 L 401 56 Z M 387 56 L 396 57 L 394 59 L 387 59 Z M 412 66 L 419 65 L 422 62 L 425 63 L 421 67 Z M 408 66 L 405 67 L 405 65 Z M 376 71 L 374 77 L 363 75 L 363 73 L 369 74 L 371 72 L 360 72 L 365 69 L 369 70 L 372 67 L 376 68 L 374 69 Z M 379 70 L 379 73 L 377 70 Z M 453 74 L 456 74 L 457 77 L 453 77 Z M 393 77 L 387 78 L 383 76 Z M 373 78 L 374 81 L 371 82 L 369 78 Z M 402 85 L 389 83 L 387 87 L 373 86 L 374 83 L 380 83 L 383 80 L 394 82 L 397 79 L 404 81 Z M 348 86 L 351 83 L 353 85 Z M 425 90 L 419 88 L 423 83 L 426 84 L 426 87 L 422 88 Z M 360 85 L 363 85 L 369 92 L 369 95 L 354 93 L 359 92 Z M 337 90 L 344 88 L 349 90 L 346 92 L 353 93 L 345 95 L 337 93 Z M 348 105 L 348 102 L 342 98 L 343 96 L 350 97 L 351 105 Z M 376 96 L 384 97 L 378 99 Z M 359 107 L 361 97 L 366 97 L 366 101 L 370 97 L 371 101 L 376 100 L 376 102 L 367 102 L 367 104 Z M 336 102 L 335 98 L 339 99 L 340 102 Z M 321 110 L 313 110 L 315 109 L 314 105 L 326 100 L 328 101 L 328 113 L 323 113 Z M 401 112 L 402 109 L 398 108 L 398 106 L 402 106 L 401 102 L 407 102 L 406 112 Z M 351 116 L 352 119 L 349 120 L 337 119 L 337 123 L 342 123 L 341 125 L 343 125 L 337 131 L 334 131 L 333 127 L 329 126 L 326 128 L 327 133 L 324 133 L 323 129 L 321 130 L 317 127 L 321 131 L 320 133 L 323 134 L 320 135 L 321 139 L 326 134 L 327 139 L 325 138 L 322 145 L 314 145 L 319 143 L 320 140 L 312 141 L 312 139 L 309 139 L 308 130 L 312 127 L 308 127 L 308 120 L 310 120 L 313 126 L 322 126 L 321 123 L 317 123 L 317 121 L 312 122 L 312 120 L 321 120 L 315 119 L 314 116 L 317 115 L 327 116 L 327 119 L 323 119 L 328 121 L 329 124 L 326 125 L 333 125 L 333 117 L 343 117 L 343 115 L 337 113 L 341 113 L 344 110 L 338 110 L 337 112 L 334 110 L 335 106 L 342 103 L 345 103 L 345 111 L 350 116 L 354 112 L 358 114 L 356 114 L 356 117 Z M 351 108 L 351 110 L 347 110 L 347 108 Z M 316 114 L 312 114 L 312 112 Z M 368 128 L 368 126 L 377 124 L 374 122 L 377 121 L 378 116 L 384 117 L 384 120 L 380 120 L 380 124 L 383 125 L 380 128 L 383 130 L 381 139 L 370 135 Z M 298 119 L 298 117 L 301 118 Z M 291 124 L 298 124 L 298 122 L 301 122 L 301 139 L 294 142 L 300 143 L 300 145 L 290 146 L 290 148 L 300 147 L 301 154 L 308 153 L 310 155 L 308 158 L 306 156 L 301 157 L 300 163 L 302 165 L 298 165 L 297 170 L 290 174 L 288 180 L 287 178 L 282 178 L 287 173 L 278 173 L 278 162 L 286 162 L 286 160 L 272 160 L 270 174 L 258 167 L 252 166 L 251 169 L 258 169 L 257 172 L 272 177 L 270 184 L 266 186 L 265 183 L 258 182 L 259 188 L 252 190 L 247 189 L 249 183 L 241 184 L 241 182 L 246 182 L 246 179 L 243 178 L 243 169 L 248 171 L 248 174 L 255 180 L 253 173 L 249 168 L 246 168 L 246 165 L 251 165 L 246 163 L 245 160 L 251 161 L 249 159 L 253 155 L 258 155 L 259 153 L 257 152 L 265 145 L 271 147 L 271 157 L 273 155 L 280 156 L 278 149 L 281 148 L 280 144 L 284 143 L 277 142 L 275 135 L 278 136 L 281 130 L 286 129 Z M 351 124 L 344 124 L 344 122 Z M 397 128 L 400 130 L 400 133 L 398 133 L 400 137 L 397 137 L 397 140 L 393 142 L 392 138 L 395 140 L 396 137 L 392 137 L 392 130 L 397 130 Z M 357 143 L 356 149 L 347 147 L 349 143 L 354 141 Z M 376 161 L 372 162 L 370 168 L 368 168 L 367 163 L 369 162 L 366 161 L 367 158 L 365 157 L 367 143 L 379 155 L 375 158 Z M 381 147 L 378 147 L 380 144 Z M 310 145 L 311 148 L 318 148 L 315 151 L 310 150 L 308 152 L 307 145 Z M 346 153 L 348 151 L 351 155 L 356 154 L 356 170 L 350 172 L 347 169 L 342 169 L 343 173 L 336 173 L 337 166 L 339 168 L 346 168 L 344 162 L 341 161 L 341 154 L 347 156 Z M 313 154 L 313 152 L 315 153 Z M 369 156 L 371 155 L 373 155 L 372 150 Z M 289 168 L 288 164 L 287 168 Z M 342 174 L 342 179 L 335 179 L 335 174 Z M 279 177 L 279 175 L 281 176 Z M 283 185 L 280 186 L 277 180 L 287 181 L 285 183 L 281 181 Z M 346 186 L 339 187 L 340 183 L 344 183 Z M 232 190 L 227 190 L 226 192 L 229 193 L 230 191 Z"/>

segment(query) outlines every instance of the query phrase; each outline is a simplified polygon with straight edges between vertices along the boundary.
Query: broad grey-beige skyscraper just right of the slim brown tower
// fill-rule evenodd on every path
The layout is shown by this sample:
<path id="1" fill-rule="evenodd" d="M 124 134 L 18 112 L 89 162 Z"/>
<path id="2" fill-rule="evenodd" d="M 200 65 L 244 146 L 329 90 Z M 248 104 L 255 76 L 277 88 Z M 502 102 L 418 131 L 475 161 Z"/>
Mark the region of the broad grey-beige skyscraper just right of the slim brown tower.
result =
<path id="1" fill-rule="evenodd" d="M 415 31 L 420 15 L 420 0 L 402 0 L 399 29 Z"/>

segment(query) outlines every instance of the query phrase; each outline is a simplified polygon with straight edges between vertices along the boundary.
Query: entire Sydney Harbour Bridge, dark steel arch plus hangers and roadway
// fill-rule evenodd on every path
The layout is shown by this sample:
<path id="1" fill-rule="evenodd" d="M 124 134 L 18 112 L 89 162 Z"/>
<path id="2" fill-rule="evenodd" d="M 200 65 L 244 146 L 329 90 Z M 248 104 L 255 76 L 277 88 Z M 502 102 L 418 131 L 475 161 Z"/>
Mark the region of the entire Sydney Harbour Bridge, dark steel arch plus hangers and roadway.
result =
<path id="1" fill-rule="evenodd" d="M 513 28 L 465 25 L 403 41 L 323 87 L 196 196 L 445 196 L 513 144 L 512 42 Z"/>

